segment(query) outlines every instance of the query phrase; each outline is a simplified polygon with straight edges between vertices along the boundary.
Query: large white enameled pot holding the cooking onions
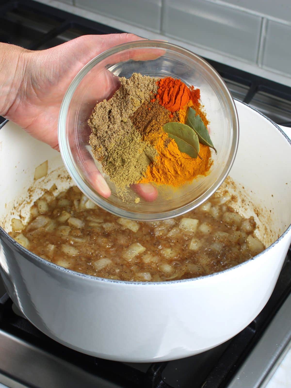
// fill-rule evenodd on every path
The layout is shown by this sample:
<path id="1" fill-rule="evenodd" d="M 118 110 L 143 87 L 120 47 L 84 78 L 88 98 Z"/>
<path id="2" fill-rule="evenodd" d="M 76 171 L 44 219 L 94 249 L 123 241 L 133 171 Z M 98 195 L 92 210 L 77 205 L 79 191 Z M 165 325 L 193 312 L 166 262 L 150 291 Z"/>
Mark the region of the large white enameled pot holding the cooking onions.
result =
<path id="1" fill-rule="evenodd" d="M 149 362 L 208 350 L 236 335 L 268 301 L 291 242 L 291 141 L 271 120 L 236 102 L 240 140 L 230 177 L 241 206 L 255 214 L 269 246 L 253 260 L 196 279 L 111 281 L 75 273 L 30 253 L 9 237 L 21 201 L 68 181 L 60 155 L 12 123 L 0 130 L 0 266 L 14 303 L 54 340 L 104 359 Z M 35 167 L 49 175 L 33 183 Z M 57 170 L 56 170 L 57 169 Z M 56 171 L 55 171 L 56 170 Z M 50 172 L 52 171 L 52 172 Z M 54 172 L 55 171 L 55 172 Z M 28 191 L 33 184 L 33 190 Z M 231 187 L 230 187 L 231 190 Z M 5 231 L 6 230 L 6 231 Z"/>

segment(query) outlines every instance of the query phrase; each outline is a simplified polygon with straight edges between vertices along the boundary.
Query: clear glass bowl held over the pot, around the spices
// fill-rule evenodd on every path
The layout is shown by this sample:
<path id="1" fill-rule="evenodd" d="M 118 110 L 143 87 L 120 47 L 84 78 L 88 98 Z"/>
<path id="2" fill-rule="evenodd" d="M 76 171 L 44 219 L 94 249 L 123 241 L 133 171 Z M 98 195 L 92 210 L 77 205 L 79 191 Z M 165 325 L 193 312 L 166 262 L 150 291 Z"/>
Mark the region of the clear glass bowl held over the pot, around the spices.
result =
<path id="1" fill-rule="evenodd" d="M 131 201 L 116 195 L 115 186 L 106 181 L 111 196 L 104 198 L 92 187 L 91 172 L 100 165 L 93 161 L 88 138 L 87 120 L 96 102 L 110 98 L 118 77 L 133 73 L 152 77 L 180 78 L 186 85 L 201 91 L 201 102 L 210 121 L 212 152 L 210 173 L 178 189 L 158 187 L 155 201 L 146 202 L 129 189 Z M 105 210 L 133 220 L 163 220 L 176 217 L 197 207 L 215 192 L 227 177 L 236 156 L 239 124 L 230 92 L 219 74 L 202 58 L 189 50 L 160 41 L 137 41 L 113 47 L 90 61 L 74 78 L 64 96 L 59 114 L 59 146 L 64 164 L 81 191 Z"/>

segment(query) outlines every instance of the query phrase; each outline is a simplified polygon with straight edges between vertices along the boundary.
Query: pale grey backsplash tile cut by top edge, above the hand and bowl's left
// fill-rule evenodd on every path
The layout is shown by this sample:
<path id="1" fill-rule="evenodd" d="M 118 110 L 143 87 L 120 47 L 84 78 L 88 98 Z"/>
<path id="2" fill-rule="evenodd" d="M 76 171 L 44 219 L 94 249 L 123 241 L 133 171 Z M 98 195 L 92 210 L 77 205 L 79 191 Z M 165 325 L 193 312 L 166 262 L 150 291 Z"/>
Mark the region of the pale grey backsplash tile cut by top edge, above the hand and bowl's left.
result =
<path id="1" fill-rule="evenodd" d="M 154 31 L 160 30 L 162 0 L 75 0 L 87 10 L 127 21 Z"/>

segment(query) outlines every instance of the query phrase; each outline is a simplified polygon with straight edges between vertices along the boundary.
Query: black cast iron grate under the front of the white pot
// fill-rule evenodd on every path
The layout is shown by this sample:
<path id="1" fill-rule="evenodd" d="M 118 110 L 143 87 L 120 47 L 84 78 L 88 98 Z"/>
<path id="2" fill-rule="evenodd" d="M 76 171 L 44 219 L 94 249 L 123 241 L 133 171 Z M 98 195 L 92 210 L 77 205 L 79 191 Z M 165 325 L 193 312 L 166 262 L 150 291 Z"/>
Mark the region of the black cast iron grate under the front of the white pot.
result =
<path id="1" fill-rule="evenodd" d="M 97 359 L 60 345 L 41 333 L 28 320 L 15 314 L 7 294 L 0 299 L 0 329 L 98 375 L 104 383 L 110 381 L 116 386 L 128 388 L 226 388 L 290 293 L 289 249 L 270 300 L 258 317 L 241 333 L 199 355 L 153 364 L 135 365 Z"/>

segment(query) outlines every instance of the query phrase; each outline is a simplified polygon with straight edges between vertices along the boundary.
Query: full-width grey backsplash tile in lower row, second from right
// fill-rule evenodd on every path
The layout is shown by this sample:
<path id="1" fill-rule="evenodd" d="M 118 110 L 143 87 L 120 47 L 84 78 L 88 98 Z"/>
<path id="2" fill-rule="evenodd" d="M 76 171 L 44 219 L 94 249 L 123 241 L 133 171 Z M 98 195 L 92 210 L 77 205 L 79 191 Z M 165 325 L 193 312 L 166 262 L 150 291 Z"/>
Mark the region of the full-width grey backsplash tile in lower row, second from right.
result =
<path id="1" fill-rule="evenodd" d="M 256 62 L 262 18 L 205 0 L 165 0 L 162 31 Z"/>

